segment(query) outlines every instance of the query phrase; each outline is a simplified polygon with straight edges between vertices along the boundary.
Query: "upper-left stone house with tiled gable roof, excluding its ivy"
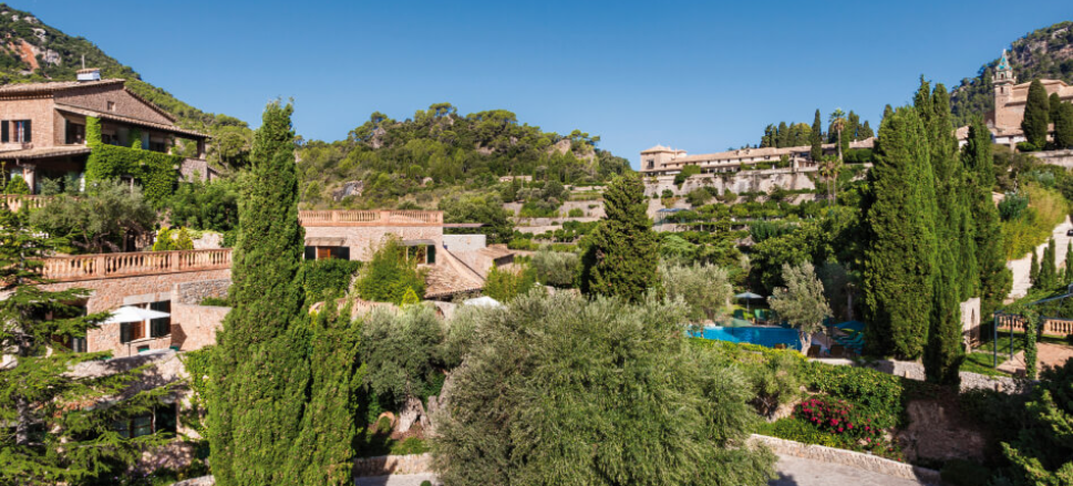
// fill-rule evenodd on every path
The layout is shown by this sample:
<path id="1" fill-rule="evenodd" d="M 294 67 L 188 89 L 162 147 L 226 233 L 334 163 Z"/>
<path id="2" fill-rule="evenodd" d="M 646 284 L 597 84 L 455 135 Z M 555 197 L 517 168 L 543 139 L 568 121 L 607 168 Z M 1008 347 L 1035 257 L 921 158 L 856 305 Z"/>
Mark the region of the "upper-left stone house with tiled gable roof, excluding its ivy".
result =
<path id="1" fill-rule="evenodd" d="M 0 86 L 0 163 L 8 177 L 21 175 L 33 193 L 41 180 L 83 179 L 86 158 L 86 117 L 101 120 L 101 142 L 131 147 L 141 134 L 141 148 L 171 153 L 176 138 L 197 146 L 179 170 L 208 179 L 207 135 L 180 128 L 177 118 L 124 87 L 125 80 L 102 80 L 96 69 L 79 71 L 78 81 Z"/>

